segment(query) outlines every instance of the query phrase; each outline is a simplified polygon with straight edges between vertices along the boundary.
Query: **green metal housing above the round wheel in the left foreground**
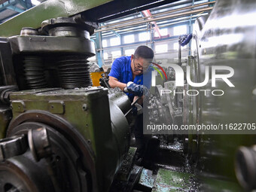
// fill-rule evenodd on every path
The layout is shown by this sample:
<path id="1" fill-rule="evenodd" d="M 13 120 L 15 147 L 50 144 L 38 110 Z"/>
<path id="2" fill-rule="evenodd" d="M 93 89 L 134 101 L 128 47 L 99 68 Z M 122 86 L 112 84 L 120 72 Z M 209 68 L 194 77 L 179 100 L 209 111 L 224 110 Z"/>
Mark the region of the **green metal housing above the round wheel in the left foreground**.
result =
<path id="1" fill-rule="evenodd" d="M 101 87 L 76 90 L 46 88 L 23 90 L 12 93 L 10 97 L 13 119 L 24 112 L 39 110 L 50 111 L 71 123 L 93 151 L 91 154 L 96 165 L 98 184 L 101 184 L 99 191 L 108 191 L 117 167 L 120 166 L 122 156 L 125 154 L 121 146 L 127 146 L 129 138 L 123 138 L 129 133 L 128 123 L 114 127 L 117 125 L 116 122 L 118 123 L 117 120 L 122 117 L 118 116 L 121 112 L 114 111 L 117 120 L 111 121 L 111 110 L 120 110 L 120 108 L 114 106 L 114 102 L 109 104 L 108 90 Z M 0 108 L 0 120 L 2 118 Z M 0 136 L 3 135 L 5 135 L 5 130 L 2 129 Z M 133 151 L 135 153 L 135 148 Z"/>

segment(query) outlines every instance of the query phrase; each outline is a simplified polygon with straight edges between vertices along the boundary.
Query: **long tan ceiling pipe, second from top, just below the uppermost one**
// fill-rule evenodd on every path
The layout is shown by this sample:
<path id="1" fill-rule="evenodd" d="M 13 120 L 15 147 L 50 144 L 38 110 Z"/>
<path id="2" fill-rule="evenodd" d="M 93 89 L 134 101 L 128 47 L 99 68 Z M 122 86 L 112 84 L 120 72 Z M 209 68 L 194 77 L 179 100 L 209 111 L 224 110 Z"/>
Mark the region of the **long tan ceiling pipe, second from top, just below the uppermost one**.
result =
<path id="1" fill-rule="evenodd" d="M 203 9 L 198 9 L 198 10 L 194 10 L 194 11 L 187 11 L 187 12 L 180 13 L 180 14 L 172 14 L 172 15 L 169 15 L 169 16 L 155 18 L 155 19 L 150 20 L 150 22 L 157 21 L 157 20 L 165 20 L 165 19 L 169 19 L 169 18 L 172 18 L 172 17 L 184 16 L 184 15 L 187 15 L 187 14 L 196 14 L 196 13 L 200 13 L 202 11 L 210 11 L 210 10 L 212 10 L 212 8 L 203 8 Z M 142 24 L 142 23 L 148 23 L 148 20 L 139 21 L 137 23 L 129 23 L 129 24 L 118 26 L 118 27 L 114 26 L 114 27 L 110 27 L 108 29 L 99 29 L 99 30 L 96 30 L 95 32 L 104 32 L 104 31 L 109 31 L 109 30 L 112 30 L 112 29 L 122 28 L 122 27 L 126 27 L 126 26 L 134 26 L 136 24 Z"/>

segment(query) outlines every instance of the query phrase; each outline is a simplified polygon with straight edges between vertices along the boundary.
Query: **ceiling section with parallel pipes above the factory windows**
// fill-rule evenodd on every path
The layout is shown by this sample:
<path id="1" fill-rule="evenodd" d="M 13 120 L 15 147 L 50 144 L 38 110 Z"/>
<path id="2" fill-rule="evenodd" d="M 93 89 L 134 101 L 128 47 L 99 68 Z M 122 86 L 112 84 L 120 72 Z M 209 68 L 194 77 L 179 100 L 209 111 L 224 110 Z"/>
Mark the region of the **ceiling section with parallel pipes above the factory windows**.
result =
<path id="1" fill-rule="evenodd" d="M 197 17 L 209 14 L 210 10 L 208 9 L 214 5 L 213 3 L 214 1 L 210 0 L 181 0 L 172 2 L 101 23 L 101 27 L 96 32 L 102 32 L 102 38 L 106 38 L 114 35 L 118 36 L 131 32 L 145 31 L 148 29 L 149 23 L 146 21 L 152 19 L 154 31 L 159 32 L 159 29 L 166 26 L 194 23 Z M 163 19 L 160 19 L 160 17 L 163 17 Z M 96 35 L 93 35 L 91 38 L 95 39 Z"/>

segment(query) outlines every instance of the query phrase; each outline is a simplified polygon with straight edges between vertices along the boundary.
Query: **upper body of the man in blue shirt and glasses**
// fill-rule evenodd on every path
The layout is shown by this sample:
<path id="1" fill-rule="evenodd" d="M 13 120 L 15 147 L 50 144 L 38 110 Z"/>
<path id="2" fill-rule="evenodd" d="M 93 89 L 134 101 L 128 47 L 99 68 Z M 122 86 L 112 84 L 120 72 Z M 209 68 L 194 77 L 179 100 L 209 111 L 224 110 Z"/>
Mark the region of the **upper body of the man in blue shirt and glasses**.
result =
<path id="1" fill-rule="evenodd" d="M 121 56 L 115 59 L 108 74 L 108 84 L 112 88 L 119 87 L 133 102 L 136 96 L 143 96 L 143 90 L 147 91 L 145 87 L 149 88 L 151 85 L 151 70 L 148 66 L 153 58 L 154 51 L 142 45 L 132 56 Z M 139 103 L 142 104 L 142 101 Z"/>

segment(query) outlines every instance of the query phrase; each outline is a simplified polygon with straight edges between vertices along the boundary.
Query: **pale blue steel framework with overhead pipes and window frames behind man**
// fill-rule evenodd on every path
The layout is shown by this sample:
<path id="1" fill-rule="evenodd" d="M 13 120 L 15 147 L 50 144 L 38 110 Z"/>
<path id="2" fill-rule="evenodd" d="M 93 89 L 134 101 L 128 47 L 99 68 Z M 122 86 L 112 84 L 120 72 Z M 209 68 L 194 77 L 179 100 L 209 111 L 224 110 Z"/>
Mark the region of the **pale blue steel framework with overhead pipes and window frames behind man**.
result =
<path id="1" fill-rule="evenodd" d="M 162 36 L 160 38 L 154 38 L 154 32 L 159 32 L 160 29 L 166 27 L 174 27 L 187 25 L 187 33 L 193 32 L 193 24 L 197 17 L 209 14 L 212 10 L 212 5 L 214 1 L 204 1 L 204 0 L 190 0 L 190 1 L 180 1 L 173 2 L 169 5 L 163 5 L 159 8 L 152 8 L 151 10 L 140 11 L 137 14 L 133 14 L 133 19 L 127 20 L 128 17 L 122 17 L 118 20 L 111 20 L 108 23 L 100 26 L 96 30 L 96 33 L 101 33 L 99 36 L 93 35 L 93 41 L 96 41 L 96 52 L 101 54 L 96 54 L 96 60 L 99 64 L 104 62 L 102 57 L 104 50 L 116 50 L 120 48 L 122 55 L 123 48 L 138 46 L 139 44 L 150 44 L 151 48 L 154 50 L 155 43 L 166 42 L 166 41 L 176 41 L 178 36 Z M 150 14 L 149 14 L 150 13 Z M 157 23 L 156 23 L 157 22 Z M 156 30 L 156 26 L 157 29 Z M 130 44 L 120 44 L 118 46 L 108 46 L 102 47 L 99 41 L 102 42 L 102 38 L 111 38 L 115 36 L 115 33 L 120 35 L 120 40 L 124 35 L 138 34 L 139 32 L 149 31 L 151 34 L 149 41 L 135 41 Z M 190 44 L 188 44 L 188 54 L 190 54 Z"/>

